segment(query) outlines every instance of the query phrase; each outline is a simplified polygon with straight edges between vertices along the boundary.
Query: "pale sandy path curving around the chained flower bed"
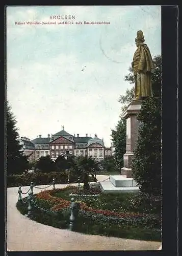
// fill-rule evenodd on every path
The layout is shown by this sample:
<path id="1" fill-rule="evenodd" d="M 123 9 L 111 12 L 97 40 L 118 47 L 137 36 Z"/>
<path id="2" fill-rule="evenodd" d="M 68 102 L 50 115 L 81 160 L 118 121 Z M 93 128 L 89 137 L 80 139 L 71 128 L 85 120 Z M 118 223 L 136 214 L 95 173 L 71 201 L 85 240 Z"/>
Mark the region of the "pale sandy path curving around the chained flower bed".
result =
<path id="1" fill-rule="evenodd" d="M 98 175 L 98 181 L 109 176 Z M 44 185 L 46 186 L 46 185 Z M 65 184 L 56 184 L 56 188 Z M 25 193 L 30 186 L 22 187 Z M 43 187 L 40 185 L 38 187 Z M 50 187 L 53 188 L 52 186 Z M 40 189 L 34 188 L 34 194 Z M 27 196 L 27 195 L 22 195 Z M 7 188 L 8 251 L 90 251 L 90 250 L 158 250 L 160 242 L 138 241 L 82 234 L 37 223 L 20 214 L 16 208 L 18 187 Z"/>

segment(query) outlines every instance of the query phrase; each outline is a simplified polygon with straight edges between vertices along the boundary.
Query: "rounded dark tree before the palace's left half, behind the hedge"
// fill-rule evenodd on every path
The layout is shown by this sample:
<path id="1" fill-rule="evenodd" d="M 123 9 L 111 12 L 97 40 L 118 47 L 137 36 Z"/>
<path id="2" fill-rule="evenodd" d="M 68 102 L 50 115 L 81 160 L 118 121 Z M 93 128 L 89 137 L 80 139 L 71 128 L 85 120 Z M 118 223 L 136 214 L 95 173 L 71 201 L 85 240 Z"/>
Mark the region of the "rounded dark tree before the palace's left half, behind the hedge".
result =
<path id="1" fill-rule="evenodd" d="M 36 168 L 38 168 L 42 173 L 55 172 L 55 163 L 49 156 L 41 157 L 36 163 Z"/>

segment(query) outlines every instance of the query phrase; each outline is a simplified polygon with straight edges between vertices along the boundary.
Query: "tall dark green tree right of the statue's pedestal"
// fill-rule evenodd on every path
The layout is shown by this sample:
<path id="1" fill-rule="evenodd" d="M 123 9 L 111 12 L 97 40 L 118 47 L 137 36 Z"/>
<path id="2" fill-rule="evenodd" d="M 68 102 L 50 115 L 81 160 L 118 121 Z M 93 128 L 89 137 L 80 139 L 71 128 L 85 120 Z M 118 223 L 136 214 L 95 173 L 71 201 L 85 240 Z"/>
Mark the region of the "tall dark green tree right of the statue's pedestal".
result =
<path id="1" fill-rule="evenodd" d="M 141 122 L 132 161 L 133 177 L 140 190 L 161 194 L 161 56 L 154 58 L 153 97 L 142 101 L 137 118 Z"/>

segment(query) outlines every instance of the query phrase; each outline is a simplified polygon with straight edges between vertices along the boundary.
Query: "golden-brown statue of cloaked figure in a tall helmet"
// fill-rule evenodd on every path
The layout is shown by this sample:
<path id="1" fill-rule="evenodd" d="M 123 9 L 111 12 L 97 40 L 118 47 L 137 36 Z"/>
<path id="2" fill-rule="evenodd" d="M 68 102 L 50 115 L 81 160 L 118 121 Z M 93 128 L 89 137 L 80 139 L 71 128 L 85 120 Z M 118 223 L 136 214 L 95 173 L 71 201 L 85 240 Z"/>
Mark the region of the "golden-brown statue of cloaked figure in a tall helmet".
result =
<path id="1" fill-rule="evenodd" d="M 152 96 L 151 71 L 153 61 L 150 50 L 144 44 L 143 32 L 139 30 L 135 38 L 137 50 L 134 53 L 132 68 L 135 76 L 135 100 L 143 100 Z"/>

